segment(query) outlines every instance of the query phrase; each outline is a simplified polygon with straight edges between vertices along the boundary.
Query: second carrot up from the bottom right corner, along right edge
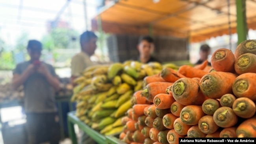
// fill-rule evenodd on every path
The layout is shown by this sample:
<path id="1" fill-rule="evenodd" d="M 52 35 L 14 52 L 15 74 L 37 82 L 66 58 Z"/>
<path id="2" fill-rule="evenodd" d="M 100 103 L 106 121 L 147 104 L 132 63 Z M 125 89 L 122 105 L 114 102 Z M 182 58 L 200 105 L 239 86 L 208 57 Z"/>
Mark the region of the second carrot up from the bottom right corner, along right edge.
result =
<path id="1" fill-rule="evenodd" d="M 255 103 L 249 98 L 237 98 L 233 103 L 232 109 L 241 118 L 250 118 L 256 112 Z"/>

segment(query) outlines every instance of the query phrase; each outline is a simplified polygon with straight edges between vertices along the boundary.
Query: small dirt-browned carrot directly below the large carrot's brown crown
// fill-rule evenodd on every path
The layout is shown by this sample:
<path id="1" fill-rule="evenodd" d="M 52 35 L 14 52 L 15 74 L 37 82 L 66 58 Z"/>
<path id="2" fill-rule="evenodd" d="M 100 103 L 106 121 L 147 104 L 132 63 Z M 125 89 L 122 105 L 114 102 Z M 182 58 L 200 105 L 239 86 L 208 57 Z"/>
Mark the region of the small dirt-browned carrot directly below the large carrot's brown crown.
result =
<path id="1" fill-rule="evenodd" d="M 205 100 L 202 104 L 202 110 L 205 114 L 213 115 L 214 112 L 219 109 L 220 103 L 218 100 L 215 99 L 208 99 Z"/>

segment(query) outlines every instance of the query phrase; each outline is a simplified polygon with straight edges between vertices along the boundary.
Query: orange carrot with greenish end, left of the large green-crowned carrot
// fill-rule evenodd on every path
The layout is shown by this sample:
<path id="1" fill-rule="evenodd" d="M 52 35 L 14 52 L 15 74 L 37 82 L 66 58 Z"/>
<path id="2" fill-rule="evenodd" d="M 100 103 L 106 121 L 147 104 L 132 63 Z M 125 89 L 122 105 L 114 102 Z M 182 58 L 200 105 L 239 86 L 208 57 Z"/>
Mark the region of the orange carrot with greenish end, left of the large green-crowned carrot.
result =
<path id="1" fill-rule="evenodd" d="M 168 82 L 154 82 L 149 83 L 141 92 L 141 95 L 146 97 L 149 102 L 154 102 L 154 97 L 157 94 L 165 94 L 165 90 L 167 87 L 172 85 L 173 83 Z"/>

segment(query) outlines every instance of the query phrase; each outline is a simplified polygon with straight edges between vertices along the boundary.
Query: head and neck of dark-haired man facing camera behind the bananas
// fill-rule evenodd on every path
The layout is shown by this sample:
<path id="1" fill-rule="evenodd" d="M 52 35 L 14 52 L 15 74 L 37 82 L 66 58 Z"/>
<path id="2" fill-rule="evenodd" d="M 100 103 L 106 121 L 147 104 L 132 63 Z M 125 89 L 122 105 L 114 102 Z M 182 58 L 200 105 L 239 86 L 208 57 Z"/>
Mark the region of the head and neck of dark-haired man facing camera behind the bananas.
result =
<path id="1" fill-rule="evenodd" d="M 151 55 L 154 52 L 154 41 L 150 36 L 141 37 L 137 49 L 139 50 L 139 57 L 137 60 L 141 63 L 148 63 L 150 61 L 159 62 Z"/>

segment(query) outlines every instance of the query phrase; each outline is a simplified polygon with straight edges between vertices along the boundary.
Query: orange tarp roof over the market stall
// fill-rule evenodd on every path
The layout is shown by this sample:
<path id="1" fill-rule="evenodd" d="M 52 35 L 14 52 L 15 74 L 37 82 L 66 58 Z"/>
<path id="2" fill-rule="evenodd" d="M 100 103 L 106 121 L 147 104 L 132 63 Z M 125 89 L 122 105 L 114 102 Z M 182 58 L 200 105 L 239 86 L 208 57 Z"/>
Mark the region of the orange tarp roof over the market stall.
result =
<path id="1" fill-rule="evenodd" d="M 101 18 L 102 30 L 107 33 L 141 34 L 189 37 L 199 42 L 210 37 L 236 33 L 236 0 L 119 0 L 109 4 L 92 20 L 93 30 L 98 30 Z M 256 0 L 246 1 L 248 28 L 256 29 Z M 100 17 L 99 17 L 100 16 Z"/>

